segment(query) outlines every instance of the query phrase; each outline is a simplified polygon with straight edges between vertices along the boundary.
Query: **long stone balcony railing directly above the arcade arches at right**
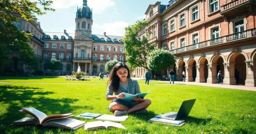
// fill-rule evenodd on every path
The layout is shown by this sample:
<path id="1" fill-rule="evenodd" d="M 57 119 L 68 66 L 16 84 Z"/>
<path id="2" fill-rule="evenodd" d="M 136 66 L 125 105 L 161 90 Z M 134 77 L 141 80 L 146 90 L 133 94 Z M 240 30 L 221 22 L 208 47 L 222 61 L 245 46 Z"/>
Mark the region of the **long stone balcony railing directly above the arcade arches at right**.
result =
<path id="1" fill-rule="evenodd" d="M 247 31 L 242 31 L 242 32 L 239 32 L 239 33 L 235 33 L 235 34 L 231 34 L 231 35 L 227 35 L 227 36 L 223 36 L 223 37 L 219 37 L 219 38 L 216 38 L 216 39 L 200 42 L 200 43 L 197 43 L 197 44 L 185 46 L 185 47 L 182 47 L 182 48 L 170 50 L 170 53 L 171 54 L 177 54 L 177 53 L 196 50 L 196 49 L 200 49 L 200 48 L 220 45 L 220 44 L 224 44 L 224 43 L 228 43 L 228 42 L 232 42 L 232 41 L 252 38 L 252 37 L 255 37 L 255 36 L 256 36 L 256 28 L 249 29 Z"/>

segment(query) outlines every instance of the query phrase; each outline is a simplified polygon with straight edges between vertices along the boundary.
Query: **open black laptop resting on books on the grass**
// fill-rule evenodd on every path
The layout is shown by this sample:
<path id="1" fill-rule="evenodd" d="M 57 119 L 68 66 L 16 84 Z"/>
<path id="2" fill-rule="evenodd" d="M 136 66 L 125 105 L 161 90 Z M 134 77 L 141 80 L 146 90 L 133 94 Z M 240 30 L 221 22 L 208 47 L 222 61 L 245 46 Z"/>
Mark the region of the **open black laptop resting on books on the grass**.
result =
<path id="1" fill-rule="evenodd" d="M 170 113 L 156 115 L 155 117 L 169 119 L 169 120 L 178 120 L 182 117 L 186 117 L 190 113 L 195 101 L 196 101 L 196 99 L 183 101 L 178 113 L 170 112 Z"/>

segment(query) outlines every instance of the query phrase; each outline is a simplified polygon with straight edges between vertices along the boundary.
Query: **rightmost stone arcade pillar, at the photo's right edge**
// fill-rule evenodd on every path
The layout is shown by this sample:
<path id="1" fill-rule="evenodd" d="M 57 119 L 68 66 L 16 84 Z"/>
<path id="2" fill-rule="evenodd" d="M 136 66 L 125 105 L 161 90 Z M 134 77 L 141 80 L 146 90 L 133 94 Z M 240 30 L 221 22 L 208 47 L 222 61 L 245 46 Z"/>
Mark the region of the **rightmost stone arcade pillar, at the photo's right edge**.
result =
<path id="1" fill-rule="evenodd" d="M 247 63 L 250 63 L 250 67 L 247 67 Z M 256 61 L 246 61 L 246 86 L 256 86 Z"/>

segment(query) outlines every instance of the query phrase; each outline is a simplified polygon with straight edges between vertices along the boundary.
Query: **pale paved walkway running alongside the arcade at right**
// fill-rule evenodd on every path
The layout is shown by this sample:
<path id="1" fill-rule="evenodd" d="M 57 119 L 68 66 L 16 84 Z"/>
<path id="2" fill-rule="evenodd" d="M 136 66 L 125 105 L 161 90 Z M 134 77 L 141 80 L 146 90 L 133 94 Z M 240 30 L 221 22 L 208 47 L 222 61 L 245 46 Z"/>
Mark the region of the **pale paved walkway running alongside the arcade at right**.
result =
<path id="1" fill-rule="evenodd" d="M 134 78 L 134 79 L 145 80 L 145 78 Z M 150 80 L 150 81 L 159 81 L 159 80 Z M 161 80 L 161 82 L 169 83 L 169 81 L 162 81 L 162 80 Z M 183 82 L 183 81 L 174 81 L 174 84 L 202 85 L 202 86 L 212 86 L 212 87 L 221 87 L 221 88 L 230 88 L 230 89 L 256 91 L 256 87 L 244 86 L 244 85 L 223 85 L 223 84 L 211 84 L 211 83 L 199 83 L 199 82 Z"/>

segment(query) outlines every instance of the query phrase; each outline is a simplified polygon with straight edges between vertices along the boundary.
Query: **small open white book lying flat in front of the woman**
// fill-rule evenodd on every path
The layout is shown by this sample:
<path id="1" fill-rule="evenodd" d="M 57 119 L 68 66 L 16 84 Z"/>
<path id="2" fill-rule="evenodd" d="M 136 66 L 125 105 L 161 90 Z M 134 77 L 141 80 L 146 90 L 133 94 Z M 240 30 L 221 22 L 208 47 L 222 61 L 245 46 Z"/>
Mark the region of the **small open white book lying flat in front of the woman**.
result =
<path id="1" fill-rule="evenodd" d="M 85 130 L 95 129 L 95 128 L 109 128 L 109 127 L 116 127 L 116 128 L 122 128 L 126 129 L 122 124 L 115 123 L 111 121 L 93 121 L 93 122 L 87 122 L 84 125 Z"/>

